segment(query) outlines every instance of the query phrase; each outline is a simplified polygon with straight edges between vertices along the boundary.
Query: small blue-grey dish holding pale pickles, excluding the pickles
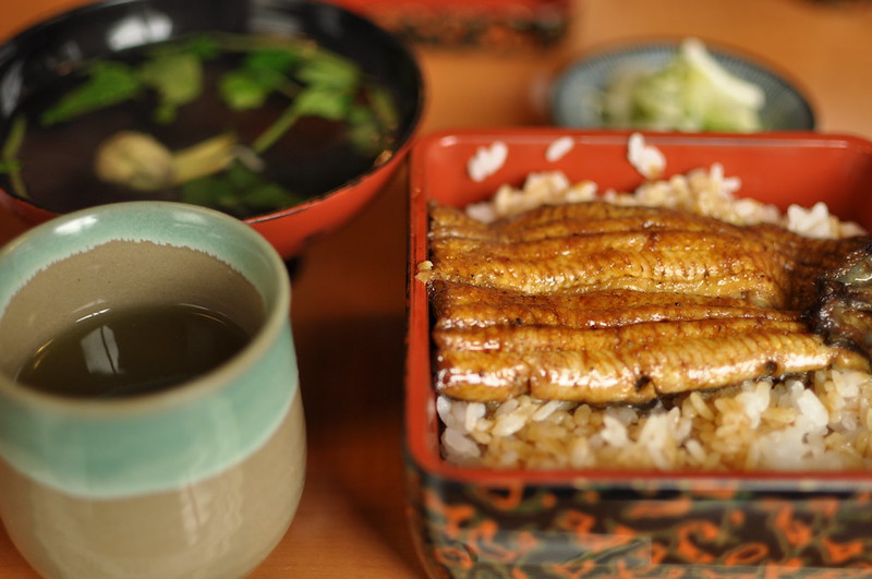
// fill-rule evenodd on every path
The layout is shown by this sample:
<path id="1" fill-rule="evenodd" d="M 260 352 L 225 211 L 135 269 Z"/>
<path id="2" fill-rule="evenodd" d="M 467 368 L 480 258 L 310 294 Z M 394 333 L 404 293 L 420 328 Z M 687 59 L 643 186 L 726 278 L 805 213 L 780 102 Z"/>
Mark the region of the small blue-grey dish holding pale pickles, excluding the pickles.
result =
<path id="1" fill-rule="evenodd" d="M 597 100 L 616 73 L 623 72 L 628 67 L 662 69 L 675 57 L 679 44 L 659 41 L 603 49 L 576 61 L 554 84 L 550 97 L 553 122 L 568 128 L 606 128 Z M 712 46 L 706 46 L 706 49 L 728 72 L 763 89 L 765 104 L 760 111 L 763 131 L 814 130 L 814 111 L 791 82 L 747 57 Z"/>

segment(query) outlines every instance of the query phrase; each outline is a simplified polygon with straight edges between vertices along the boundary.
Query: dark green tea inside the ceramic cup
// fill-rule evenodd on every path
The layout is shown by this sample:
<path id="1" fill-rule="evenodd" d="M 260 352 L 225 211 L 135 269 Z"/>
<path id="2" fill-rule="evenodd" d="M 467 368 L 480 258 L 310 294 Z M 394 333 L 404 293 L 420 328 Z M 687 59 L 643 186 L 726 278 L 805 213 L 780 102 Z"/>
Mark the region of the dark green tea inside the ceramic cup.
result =
<path id="1" fill-rule="evenodd" d="M 16 381 L 80 398 L 138 396 L 216 369 L 250 339 L 227 316 L 194 305 L 110 310 L 39 347 Z"/>

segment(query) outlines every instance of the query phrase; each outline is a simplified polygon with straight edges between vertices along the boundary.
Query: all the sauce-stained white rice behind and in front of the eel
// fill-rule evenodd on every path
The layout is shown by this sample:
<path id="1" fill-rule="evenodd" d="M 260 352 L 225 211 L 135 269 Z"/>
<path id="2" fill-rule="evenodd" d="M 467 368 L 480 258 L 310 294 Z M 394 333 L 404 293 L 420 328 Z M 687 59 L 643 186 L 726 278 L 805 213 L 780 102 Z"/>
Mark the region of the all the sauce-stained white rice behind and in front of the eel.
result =
<path id="1" fill-rule="evenodd" d="M 638 143 L 637 143 L 638 145 Z M 644 147 L 644 144 L 642 144 Z M 642 165 L 650 168 L 650 160 Z M 647 170 L 647 169 L 646 169 Z M 483 221 L 542 204 L 605 198 L 618 204 L 683 208 L 737 225 L 773 222 L 800 234 L 857 234 L 819 203 L 806 209 L 776 207 L 736 196 L 741 182 L 712 165 L 666 180 L 646 181 L 630 193 L 597 192 L 560 172 L 531 174 L 523 186 L 500 188 L 491 203 L 469 207 Z M 495 468 L 661 470 L 867 469 L 872 468 L 872 376 L 819 371 L 807 381 L 763 379 L 690 393 L 651 408 L 592 407 L 520 396 L 501 403 L 439 396 L 443 451 L 459 465 Z"/>

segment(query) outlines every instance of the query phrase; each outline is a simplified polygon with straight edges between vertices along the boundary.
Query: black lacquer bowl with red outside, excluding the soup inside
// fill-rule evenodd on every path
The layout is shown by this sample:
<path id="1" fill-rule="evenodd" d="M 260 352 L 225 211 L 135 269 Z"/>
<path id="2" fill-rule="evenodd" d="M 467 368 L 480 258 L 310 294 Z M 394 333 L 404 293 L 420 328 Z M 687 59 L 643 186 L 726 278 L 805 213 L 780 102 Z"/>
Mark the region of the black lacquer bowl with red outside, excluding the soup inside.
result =
<path id="1" fill-rule="evenodd" d="M 422 118 L 424 86 L 414 56 L 390 33 L 354 12 L 311 0 L 108 0 L 71 10 L 0 46 L 0 134 L 8 133 L 26 99 L 74 74 L 86 61 L 201 32 L 308 38 L 350 58 L 397 105 L 397 136 L 389 155 L 298 205 L 245 219 L 282 256 L 292 257 L 310 239 L 349 220 L 384 188 Z M 50 165 L 45 170 L 51 170 Z M 56 215 L 9 191 L 2 191 L 0 204 L 34 225 Z"/>

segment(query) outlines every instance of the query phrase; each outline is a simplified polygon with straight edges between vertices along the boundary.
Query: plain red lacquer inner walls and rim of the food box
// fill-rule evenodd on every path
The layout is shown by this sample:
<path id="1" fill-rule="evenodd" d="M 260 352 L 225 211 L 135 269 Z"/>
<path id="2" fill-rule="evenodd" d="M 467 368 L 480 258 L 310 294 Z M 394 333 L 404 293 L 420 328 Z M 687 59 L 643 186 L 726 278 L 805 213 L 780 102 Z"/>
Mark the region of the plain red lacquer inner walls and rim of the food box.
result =
<path id="1" fill-rule="evenodd" d="M 546 159 L 549 145 L 571 136 L 573 147 L 559 160 Z M 428 472 L 449 479 L 498 483 L 523 480 L 570 483 L 580 479 L 711 478 L 700 472 L 628 471 L 495 471 L 460 468 L 441 460 L 438 418 L 431 375 L 429 319 L 426 291 L 414 279 L 416 264 L 426 260 L 427 204 L 432 201 L 464 206 L 493 195 L 504 183 L 521 185 L 531 172 L 560 170 L 570 181 L 591 180 L 604 191 L 631 191 L 641 176 L 627 159 L 628 133 L 566 130 L 505 129 L 445 132 L 422 138 L 412 153 L 410 169 L 409 343 L 407 360 L 407 445 L 410 458 Z M 844 219 L 872 229 L 872 143 L 847 135 L 768 133 L 754 135 L 645 134 L 645 142 L 666 157 L 666 177 L 718 162 L 727 177 L 741 179 L 739 196 L 773 203 L 811 206 L 825 202 Z M 468 162 L 481 147 L 507 145 L 502 167 L 485 180 L 470 178 Z M 814 478 L 849 482 L 872 473 L 754 472 L 740 479 L 797 481 Z"/>

